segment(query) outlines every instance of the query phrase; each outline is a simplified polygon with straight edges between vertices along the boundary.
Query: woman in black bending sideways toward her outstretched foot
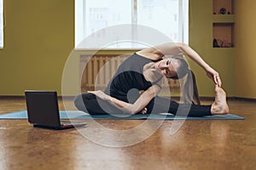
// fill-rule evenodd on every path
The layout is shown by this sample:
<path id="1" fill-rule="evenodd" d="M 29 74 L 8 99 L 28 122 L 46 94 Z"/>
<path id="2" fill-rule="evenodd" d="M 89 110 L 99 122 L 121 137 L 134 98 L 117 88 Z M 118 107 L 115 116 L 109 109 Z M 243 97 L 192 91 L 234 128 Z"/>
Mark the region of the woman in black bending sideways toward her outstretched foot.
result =
<path id="1" fill-rule="evenodd" d="M 215 101 L 212 105 L 200 105 L 195 76 L 183 57 L 185 54 L 200 65 L 207 76 L 215 83 Z M 164 56 L 172 55 L 164 59 Z M 183 103 L 178 104 L 171 99 L 157 96 L 160 93 L 158 82 L 162 77 L 181 79 L 187 77 L 183 86 Z M 210 116 L 227 114 L 229 107 L 226 94 L 221 87 L 218 72 L 201 59 L 200 55 L 183 43 L 165 43 L 160 46 L 146 48 L 132 54 L 119 66 L 108 87 L 102 91 L 89 91 L 89 94 L 78 95 L 74 103 L 80 111 L 91 115 L 114 113 L 161 113 L 174 115 L 177 110 L 188 116 Z M 139 91 L 144 91 L 140 94 Z M 185 92 L 186 91 L 186 92 Z M 192 104 L 192 105 L 191 105 Z"/>

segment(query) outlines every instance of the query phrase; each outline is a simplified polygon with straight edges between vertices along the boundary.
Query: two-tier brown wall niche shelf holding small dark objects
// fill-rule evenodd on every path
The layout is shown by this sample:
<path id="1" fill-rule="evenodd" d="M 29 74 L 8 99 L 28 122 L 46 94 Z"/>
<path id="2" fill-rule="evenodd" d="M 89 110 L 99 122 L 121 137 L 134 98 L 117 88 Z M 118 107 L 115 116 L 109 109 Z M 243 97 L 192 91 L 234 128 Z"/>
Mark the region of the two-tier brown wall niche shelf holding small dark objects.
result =
<path id="1" fill-rule="evenodd" d="M 212 0 L 212 47 L 234 47 L 234 0 Z"/>

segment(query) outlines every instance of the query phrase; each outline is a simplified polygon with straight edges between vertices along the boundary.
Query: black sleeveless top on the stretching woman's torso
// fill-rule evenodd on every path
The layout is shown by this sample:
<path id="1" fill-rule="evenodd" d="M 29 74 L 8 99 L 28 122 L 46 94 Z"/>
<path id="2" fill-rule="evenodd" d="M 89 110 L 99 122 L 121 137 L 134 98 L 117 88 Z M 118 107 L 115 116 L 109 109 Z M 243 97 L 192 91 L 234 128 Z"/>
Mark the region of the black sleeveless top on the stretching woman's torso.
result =
<path id="1" fill-rule="evenodd" d="M 143 76 L 143 66 L 152 62 L 138 54 L 132 54 L 119 65 L 118 70 L 108 82 L 105 93 L 125 102 L 134 103 L 139 90 L 147 90 L 156 82 L 148 82 Z"/>

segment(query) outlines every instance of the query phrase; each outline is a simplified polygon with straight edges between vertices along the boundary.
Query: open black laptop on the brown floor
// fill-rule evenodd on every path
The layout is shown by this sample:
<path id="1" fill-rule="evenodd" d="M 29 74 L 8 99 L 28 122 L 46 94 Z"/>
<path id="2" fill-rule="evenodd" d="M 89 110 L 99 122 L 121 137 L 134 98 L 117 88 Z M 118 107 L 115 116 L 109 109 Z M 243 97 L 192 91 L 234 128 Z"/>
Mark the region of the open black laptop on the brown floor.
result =
<path id="1" fill-rule="evenodd" d="M 25 90 L 28 122 L 33 127 L 67 129 L 82 127 L 86 122 L 61 122 L 57 92 Z"/>

